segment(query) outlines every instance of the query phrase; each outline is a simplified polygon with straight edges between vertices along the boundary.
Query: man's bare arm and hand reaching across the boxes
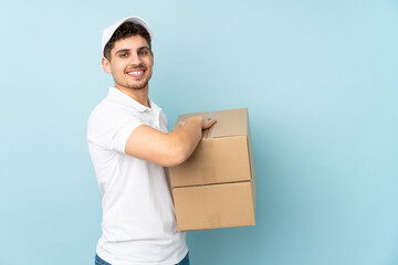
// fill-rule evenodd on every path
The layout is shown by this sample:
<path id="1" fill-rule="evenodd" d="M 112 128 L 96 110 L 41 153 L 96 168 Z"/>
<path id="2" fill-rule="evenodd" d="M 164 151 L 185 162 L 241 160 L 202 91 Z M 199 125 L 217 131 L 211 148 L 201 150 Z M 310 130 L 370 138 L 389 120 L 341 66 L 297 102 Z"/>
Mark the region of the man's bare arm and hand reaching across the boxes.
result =
<path id="1" fill-rule="evenodd" d="M 201 139 L 202 129 L 214 123 L 211 118 L 191 117 L 169 134 L 142 125 L 128 137 L 125 152 L 164 167 L 177 166 L 193 152 Z"/>

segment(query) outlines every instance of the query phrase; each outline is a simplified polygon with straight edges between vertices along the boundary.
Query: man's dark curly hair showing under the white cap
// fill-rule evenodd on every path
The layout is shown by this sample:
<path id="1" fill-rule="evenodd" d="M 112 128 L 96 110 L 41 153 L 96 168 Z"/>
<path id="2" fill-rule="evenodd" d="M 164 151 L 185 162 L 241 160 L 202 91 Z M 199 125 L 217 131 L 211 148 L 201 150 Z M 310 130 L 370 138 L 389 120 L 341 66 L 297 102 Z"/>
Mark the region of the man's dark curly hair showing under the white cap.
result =
<path id="1" fill-rule="evenodd" d="M 104 47 L 104 56 L 111 61 L 111 50 L 114 47 L 115 42 L 133 35 L 140 35 L 144 38 L 149 45 L 149 50 L 151 50 L 149 32 L 140 24 L 124 22 L 115 30 L 109 41 L 106 43 Z"/>

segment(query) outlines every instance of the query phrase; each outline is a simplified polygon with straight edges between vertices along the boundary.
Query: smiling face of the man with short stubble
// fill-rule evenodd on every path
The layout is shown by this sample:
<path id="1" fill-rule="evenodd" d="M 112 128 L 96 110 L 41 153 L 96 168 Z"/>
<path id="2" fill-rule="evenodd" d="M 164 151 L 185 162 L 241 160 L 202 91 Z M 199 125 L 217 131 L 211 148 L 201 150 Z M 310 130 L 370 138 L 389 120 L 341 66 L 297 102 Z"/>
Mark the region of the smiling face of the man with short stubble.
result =
<path id="1" fill-rule="evenodd" d="M 103 57 L 102 64 L 104 71 L 112 74 L 116 88 L 147 89 L 154 53 L 140 35 L 128 36 L 115 42 L 111 50 L 111 61 Z"/>

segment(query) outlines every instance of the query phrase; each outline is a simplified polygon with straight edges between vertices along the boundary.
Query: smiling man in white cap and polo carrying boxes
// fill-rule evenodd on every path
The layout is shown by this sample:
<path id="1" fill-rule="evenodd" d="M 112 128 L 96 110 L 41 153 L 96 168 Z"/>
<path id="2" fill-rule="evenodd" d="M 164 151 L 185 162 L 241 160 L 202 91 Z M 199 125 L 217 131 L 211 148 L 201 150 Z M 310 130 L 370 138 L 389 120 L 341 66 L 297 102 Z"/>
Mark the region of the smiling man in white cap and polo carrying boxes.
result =
<path id="1" fill-rule="evenodd" d="M 168 132 L 161 109 L 148 97 L 154 53 L 151 30 L 140 18 L 104 30 L 102 65 L 115 87 L 92 112 L 88 150 L 103 195 L 96 264 L 189 264 L 178 232 L 168 169 L 184 162 L 216 120 L 192 117 Z"/>

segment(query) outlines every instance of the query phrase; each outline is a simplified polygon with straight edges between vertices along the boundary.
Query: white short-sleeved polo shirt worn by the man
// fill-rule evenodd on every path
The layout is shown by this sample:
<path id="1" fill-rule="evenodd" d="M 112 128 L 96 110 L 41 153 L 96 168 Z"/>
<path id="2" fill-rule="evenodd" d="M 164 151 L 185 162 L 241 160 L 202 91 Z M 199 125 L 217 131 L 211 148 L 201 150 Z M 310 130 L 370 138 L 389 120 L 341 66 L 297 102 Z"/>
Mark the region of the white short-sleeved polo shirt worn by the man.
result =
<path id="1" fill-rule="evenodd" d="M 166 115 L 149 104 L 111 87 L 88 119 L 88 151 L 103 195 L 96 252 L 113 265 L 171 265 L 188 252 L 177 231 L 168 169 L 125 153 L 139 125 L 168 132 Z"/>

